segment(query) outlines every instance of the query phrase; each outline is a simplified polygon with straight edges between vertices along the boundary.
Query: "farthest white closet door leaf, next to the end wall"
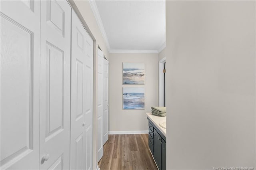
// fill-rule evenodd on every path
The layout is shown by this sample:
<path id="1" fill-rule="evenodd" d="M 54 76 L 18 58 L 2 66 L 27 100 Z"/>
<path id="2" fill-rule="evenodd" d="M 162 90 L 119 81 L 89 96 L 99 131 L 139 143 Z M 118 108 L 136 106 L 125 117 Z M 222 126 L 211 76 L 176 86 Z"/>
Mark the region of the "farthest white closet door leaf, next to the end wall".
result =
<path id="1" fill-rule="evenodd" d="M 108 141 L 108 60 L 104 59 L 103 79 L 103 143 Z"/>

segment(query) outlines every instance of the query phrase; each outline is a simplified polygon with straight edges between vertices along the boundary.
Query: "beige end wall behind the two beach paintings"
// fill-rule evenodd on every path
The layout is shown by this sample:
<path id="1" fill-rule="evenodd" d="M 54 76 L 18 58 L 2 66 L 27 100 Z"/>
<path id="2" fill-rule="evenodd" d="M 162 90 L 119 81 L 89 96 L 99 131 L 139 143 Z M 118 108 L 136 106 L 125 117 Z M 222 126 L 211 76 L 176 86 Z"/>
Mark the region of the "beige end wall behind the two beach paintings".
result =
<path id="1" fill-rule="evenodd" d="M 145 85 L 122 85 L 122 62 L 145 63 Z M 122 87 L 145 87 L 145 110 L 123 110 Z M 109 131 L 148 130 L 145 113 L 157 105 L 158 54 L 110 53 Z"/>

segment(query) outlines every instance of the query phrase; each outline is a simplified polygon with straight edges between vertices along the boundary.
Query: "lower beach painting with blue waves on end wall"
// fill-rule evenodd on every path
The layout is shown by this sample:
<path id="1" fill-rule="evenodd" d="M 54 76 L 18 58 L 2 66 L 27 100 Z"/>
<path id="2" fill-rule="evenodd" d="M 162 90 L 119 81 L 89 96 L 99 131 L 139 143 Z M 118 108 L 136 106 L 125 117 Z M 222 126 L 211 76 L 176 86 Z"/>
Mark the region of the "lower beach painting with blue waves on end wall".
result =
<path id="1" fill-rule="evenodd" d="M 123 87 L 123 109 L 145 109 L 144 87 Z"/>

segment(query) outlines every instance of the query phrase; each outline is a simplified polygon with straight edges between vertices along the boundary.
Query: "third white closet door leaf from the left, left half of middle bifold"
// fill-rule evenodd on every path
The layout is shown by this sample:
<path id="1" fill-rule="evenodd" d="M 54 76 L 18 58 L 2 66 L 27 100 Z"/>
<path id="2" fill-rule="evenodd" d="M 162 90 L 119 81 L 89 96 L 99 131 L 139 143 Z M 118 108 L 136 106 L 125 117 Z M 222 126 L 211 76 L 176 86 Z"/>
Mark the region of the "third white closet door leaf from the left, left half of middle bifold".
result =
<path id="1" fill-rule="evenodd" d="M 85 30 L 72 10 L 70 169 L 84 170 Z"/>

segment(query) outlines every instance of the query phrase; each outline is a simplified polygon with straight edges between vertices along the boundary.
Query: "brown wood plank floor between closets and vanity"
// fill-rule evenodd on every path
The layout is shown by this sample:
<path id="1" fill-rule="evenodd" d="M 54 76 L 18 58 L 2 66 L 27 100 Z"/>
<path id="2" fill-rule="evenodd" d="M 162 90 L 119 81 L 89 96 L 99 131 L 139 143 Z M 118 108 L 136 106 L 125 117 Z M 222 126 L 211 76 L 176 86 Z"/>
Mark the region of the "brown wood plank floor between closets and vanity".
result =
<path id="1" fill-rule="evenodd" d="M 148 134 L 109 135 L 100 170 L 157 170 L 148 148 Z"/>

